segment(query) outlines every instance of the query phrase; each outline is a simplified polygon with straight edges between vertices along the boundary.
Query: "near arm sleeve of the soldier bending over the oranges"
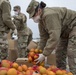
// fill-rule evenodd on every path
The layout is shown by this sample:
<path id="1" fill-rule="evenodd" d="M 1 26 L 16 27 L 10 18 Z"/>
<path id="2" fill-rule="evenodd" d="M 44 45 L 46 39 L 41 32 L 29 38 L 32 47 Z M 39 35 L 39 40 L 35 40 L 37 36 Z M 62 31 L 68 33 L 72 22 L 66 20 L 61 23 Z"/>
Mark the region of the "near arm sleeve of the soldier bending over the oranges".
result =
<path id="1" fill-rule="evenodd" d="M 49 34 L 49 38 L 44 47 L 43 54 L 49 55 L 58 44 L 61 34 L 61 22 L 57 14 L 47 15 L 45 19 L 46 29 Z"/>

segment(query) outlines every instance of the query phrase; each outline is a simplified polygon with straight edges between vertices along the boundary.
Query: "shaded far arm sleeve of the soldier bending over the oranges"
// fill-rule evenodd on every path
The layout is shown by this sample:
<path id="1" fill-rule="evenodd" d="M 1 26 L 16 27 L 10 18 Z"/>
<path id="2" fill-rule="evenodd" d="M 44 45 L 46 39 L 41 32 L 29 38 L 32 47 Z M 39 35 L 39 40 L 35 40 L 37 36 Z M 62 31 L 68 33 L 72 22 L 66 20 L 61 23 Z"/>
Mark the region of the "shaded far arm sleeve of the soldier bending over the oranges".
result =
<path id="1" fill-rule="evenodd" d="M 37 48 L 43 50 L 49 36 L 46 30 L 44 29 L 44 25 L 41 22 L 39 23 L 38 27 L 39 27 L 39 33 L 40 33 L 40 41 Z"/>

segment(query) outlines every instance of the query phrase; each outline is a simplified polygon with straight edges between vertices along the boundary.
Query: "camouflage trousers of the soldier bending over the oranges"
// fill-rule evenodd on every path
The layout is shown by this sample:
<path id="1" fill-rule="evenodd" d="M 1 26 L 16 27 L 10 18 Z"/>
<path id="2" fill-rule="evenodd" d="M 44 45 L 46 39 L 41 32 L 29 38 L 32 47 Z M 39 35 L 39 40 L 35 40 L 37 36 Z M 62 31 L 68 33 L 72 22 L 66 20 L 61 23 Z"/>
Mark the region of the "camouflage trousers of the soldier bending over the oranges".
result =
<path id="1" fill-rule="evenodd" d="M 66 39 L 61 38 L 56 49 L 57 67 L 66 69 L 66 57 L 70 71 L 76 75 L 76 26 Z"/>

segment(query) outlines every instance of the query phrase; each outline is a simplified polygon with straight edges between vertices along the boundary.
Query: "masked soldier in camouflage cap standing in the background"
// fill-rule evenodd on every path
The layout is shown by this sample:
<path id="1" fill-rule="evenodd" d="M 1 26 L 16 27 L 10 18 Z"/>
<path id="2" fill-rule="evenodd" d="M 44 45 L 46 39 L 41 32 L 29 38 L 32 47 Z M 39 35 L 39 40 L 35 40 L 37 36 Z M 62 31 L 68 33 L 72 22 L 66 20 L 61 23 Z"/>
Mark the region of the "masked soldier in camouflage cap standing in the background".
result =
<path id="1" fill-rule="evenodd" d="M 14 13 L 13 22 L 17 27 L 18 30 L 18 57 L 25 57 L 26 56 L 26 47 L 28 41 L 28 31 L 27 31 L 27 17 L 25 14 L 21 13 L 20 6 L 14 6 Z"/>

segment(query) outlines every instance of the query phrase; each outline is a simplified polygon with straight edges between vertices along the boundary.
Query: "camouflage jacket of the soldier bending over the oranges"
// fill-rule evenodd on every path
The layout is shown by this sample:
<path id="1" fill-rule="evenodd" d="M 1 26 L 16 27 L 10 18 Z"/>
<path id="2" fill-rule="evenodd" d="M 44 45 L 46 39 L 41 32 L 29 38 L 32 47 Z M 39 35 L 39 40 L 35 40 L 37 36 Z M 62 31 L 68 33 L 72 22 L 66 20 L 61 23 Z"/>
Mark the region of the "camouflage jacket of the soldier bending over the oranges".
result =
<path id="1" fill-rule="evenodd" d="M 49 55 L 58 44 L 62 28 L 76 24 L 76 11 L 67 8 L 44 8 L 39 22 L 40 42 L 38 49 Z"/>

